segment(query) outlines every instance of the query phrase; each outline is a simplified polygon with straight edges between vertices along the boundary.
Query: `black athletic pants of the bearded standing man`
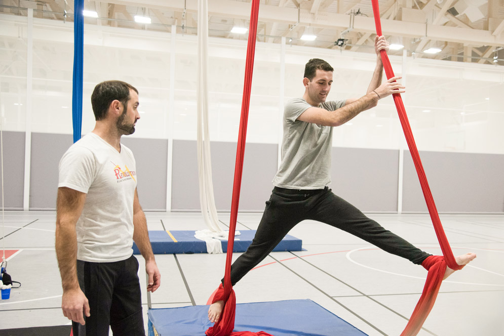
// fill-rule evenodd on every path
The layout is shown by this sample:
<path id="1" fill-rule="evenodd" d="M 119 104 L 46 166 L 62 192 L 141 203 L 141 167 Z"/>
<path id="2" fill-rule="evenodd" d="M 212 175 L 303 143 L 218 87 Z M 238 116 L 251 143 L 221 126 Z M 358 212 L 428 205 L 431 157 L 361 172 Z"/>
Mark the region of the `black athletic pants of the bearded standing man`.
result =
<path id="1" fill-rule="evenodd" d="M 145 336 L 138 260 L 113 263 L 77 260 L 77 277 L 89 301 L 90 317 L 85 325 L 72 322 L 74 336 Z"/>

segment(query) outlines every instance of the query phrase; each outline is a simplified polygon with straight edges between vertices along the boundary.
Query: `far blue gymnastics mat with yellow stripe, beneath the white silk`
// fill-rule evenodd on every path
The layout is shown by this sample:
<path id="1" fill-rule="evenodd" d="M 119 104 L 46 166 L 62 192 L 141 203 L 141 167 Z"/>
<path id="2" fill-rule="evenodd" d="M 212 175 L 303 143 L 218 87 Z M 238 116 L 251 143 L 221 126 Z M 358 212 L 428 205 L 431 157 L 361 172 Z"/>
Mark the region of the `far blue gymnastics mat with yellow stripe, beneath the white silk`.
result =
<path id="1" fill-rule="evenodd" d="M 233 252 L 245 252 L 252 243 L 256 230 L 240 230 L 240 235 L 235 237 Z M 152 252 L 156 255 L 181 254 L 181 253 L 207 253 L 207 244 L 195 238 L 195 231 L 149 231 Z M 222 240 L 222 250 L 227 249 L 227 240 Z M 302 241 L 291 235 L 284 239 L 273 251 L 301 251 Z M 139 255 L 140 251 L 133 243 L 133 254 Z"/>

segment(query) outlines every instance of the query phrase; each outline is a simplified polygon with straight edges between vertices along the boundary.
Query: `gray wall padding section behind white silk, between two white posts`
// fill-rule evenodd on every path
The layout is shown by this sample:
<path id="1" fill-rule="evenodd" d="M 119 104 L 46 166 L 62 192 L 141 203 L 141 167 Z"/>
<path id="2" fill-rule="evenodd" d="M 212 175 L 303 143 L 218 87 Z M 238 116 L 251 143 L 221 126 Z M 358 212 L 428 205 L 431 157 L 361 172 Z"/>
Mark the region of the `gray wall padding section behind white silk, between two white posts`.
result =
<path id="1" fill-rule="evenodd" d="M 215 205 L 231 208 L 236 143 L 212 142 L 212 175 Z M 262 211 L 269 199 L 277 171 L 276 144 L 247 144 L 240 193 L 240 211 Z M 200 211 L 196 141 L 173 141 L 172 209 Z"/>

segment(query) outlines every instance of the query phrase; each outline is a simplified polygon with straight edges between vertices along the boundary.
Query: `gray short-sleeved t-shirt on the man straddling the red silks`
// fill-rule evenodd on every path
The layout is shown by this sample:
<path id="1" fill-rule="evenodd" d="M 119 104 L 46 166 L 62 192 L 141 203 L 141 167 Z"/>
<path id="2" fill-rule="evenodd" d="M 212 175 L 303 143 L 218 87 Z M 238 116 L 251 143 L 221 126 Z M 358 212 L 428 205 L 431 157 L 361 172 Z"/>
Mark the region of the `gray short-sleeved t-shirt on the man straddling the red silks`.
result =
<path id="1" fill-rule="evenodd" d="M 329 101 L 320 108 L 334 111 L 345 100 Z M 297 118 L 312 105 L 302 98 L 290 100 L 284 110 L 282 163 L 273 184 L 288 189 L 323 189 L 331 182 L 332 127 Z"/>

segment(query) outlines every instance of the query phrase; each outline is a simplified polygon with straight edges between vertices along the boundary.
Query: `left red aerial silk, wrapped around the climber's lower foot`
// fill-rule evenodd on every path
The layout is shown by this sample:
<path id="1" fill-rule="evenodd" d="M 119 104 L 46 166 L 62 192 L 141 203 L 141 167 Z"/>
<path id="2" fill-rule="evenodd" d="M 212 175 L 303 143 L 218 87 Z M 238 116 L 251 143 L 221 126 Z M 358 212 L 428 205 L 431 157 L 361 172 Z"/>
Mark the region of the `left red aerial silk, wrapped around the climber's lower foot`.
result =
<path id="1" fill-rule="evenodd" d="M 231 201 L 231 219 L 229 223 L 229 236 L 227 240 L 226 268 L 224 285 L 220 285 L 215 292 L 212 303 L 224 301 L 224 309 L 220 319 L 214 326 L 205 331 L 207 336 L 273 336 L 266 332 L 239 331 L 232 332 L 235 328 L 236 297 L 231 285 L 231 259 L 233 244 L 235 243 L 236 221 L 238 217 L 238 203 L 240 200 L 240 187 L 242 184 L 243 158 L 245 155 L 245 140 L 247 137 L 247 120 L 249 115 L 250 91 L 252 88 L 252 72 L 254 68 L 255 40 L 257 34 L 257 19 L 259 14 L 259 0 L 252 1 L 250 13 L 249 39 L 247 45 L 247 59 L 245 65 L 245 83 L 243 87 L 242 114 L 238 132 L 238 147 L 236 150 L 235 180 L 233 184 Z"/>

